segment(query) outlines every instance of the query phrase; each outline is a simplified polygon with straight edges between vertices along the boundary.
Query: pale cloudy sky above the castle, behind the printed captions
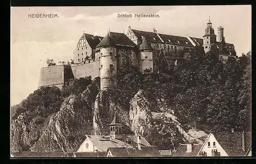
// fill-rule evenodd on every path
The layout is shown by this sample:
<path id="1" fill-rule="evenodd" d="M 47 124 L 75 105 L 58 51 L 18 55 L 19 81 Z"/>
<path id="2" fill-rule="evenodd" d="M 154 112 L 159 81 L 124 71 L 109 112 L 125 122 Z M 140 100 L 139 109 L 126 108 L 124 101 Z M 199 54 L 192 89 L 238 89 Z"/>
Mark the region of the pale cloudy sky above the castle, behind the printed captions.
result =
<path id="1" fill-rule="evenodd" d="M 31 18 L 28 14 L 57 14 Z M 118 18 L 117 14 L 159 14 L 158 18 Z M 118 7 L 11 7 L 11 105 L 37 89 L 40 68 L 48 58 L 73 59 L 82 33 L 104 37 L 132 29 L 202 38 L 208 16 L 212 28 L 224 27 L 225 41 L 237 55 L 251 51 L 251 6 L 118 6 Z"/>

